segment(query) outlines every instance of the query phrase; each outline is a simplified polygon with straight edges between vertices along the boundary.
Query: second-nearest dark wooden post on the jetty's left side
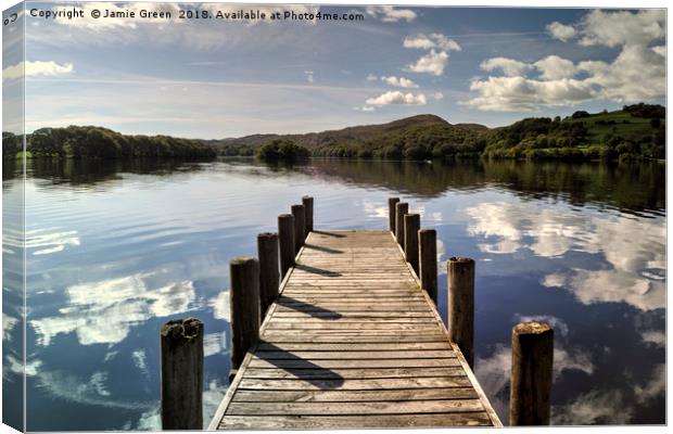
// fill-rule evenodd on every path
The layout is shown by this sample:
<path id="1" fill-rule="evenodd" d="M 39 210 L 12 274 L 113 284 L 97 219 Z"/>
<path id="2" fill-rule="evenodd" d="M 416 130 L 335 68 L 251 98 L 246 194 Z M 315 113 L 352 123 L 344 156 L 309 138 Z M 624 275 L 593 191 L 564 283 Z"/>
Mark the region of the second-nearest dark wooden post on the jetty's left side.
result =
<path id="1" fill-rule="evenodd" d="M 241 366 L 245 353 L 259 339 L 259 263 L 239 256 L 229 263 L 231 278 L 231 369 Z"/>

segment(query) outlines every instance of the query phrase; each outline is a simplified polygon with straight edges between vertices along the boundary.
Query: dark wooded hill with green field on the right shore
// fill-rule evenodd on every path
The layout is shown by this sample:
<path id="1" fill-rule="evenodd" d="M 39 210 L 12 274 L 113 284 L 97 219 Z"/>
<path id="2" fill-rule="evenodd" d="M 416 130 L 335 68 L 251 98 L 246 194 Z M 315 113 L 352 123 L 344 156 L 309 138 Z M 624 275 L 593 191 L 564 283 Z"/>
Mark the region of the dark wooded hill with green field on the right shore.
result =
<path id="1" fill-rule="evenodd" d="M 491 158 L 634 159 L 665 157 L 665 108 L 624 105 L 575 112 L 561 119 L 531 117 L 484 133 Z"/>

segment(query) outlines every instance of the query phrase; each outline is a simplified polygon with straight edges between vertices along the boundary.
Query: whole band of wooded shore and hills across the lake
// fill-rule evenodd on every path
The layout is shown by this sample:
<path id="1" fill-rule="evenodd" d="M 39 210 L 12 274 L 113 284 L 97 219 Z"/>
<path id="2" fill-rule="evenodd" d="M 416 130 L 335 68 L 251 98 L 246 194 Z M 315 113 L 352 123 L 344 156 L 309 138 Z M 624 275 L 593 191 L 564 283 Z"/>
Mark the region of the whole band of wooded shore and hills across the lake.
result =
<path id="1" fill-rule="evenodd" d="M 2 135 L 4 157 L 22 155 L 21 136 Z M 600 113 L 577 111 L 561 118 L 530 117 L 506 127 L 449 124 L 418 115 L 388 124 L 306 135 L 254 135 L 198 140 L 129 136 L 94 126 L 41 128 L 26 136 L 29 157 L 215 158 L 253 156 L 266 161 L 309 156 L 380 159 L 466 157 L 513 159 L 662 159 L 665 107 L 624 105 Z"/>

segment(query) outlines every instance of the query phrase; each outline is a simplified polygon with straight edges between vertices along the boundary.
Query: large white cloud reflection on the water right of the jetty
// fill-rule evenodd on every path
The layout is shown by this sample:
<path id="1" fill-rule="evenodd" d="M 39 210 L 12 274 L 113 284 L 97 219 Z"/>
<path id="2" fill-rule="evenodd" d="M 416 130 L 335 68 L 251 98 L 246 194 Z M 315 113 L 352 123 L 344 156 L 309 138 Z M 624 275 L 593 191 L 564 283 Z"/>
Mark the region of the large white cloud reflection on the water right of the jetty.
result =
<path id="1" fill-rule="evenodd" d="M 542 284 L 571 290 L 583 304 L 619 302 L 640 310 L 665 303 L 665 225 L 660 220 L 610 214 L 573 214 L 570 208 L 534 204 L 485 203 L 466 208 L 482 252 L 510 254 L 529 250 L 538 257 L 570 251 L 601 254 L 610 268 L 557 271 Z"/>

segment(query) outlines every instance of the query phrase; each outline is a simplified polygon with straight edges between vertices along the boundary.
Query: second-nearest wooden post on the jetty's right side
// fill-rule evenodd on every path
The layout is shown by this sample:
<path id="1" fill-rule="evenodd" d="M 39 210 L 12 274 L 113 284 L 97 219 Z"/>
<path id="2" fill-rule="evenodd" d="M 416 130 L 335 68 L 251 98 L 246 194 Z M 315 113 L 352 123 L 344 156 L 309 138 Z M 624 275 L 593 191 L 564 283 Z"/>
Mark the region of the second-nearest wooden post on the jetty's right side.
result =
<path id="1" fill-rule="evenodd" d="M 448 263 L 448 336 L 468 365 L 474 367 L 474 260 L 452 257 Z"/>

